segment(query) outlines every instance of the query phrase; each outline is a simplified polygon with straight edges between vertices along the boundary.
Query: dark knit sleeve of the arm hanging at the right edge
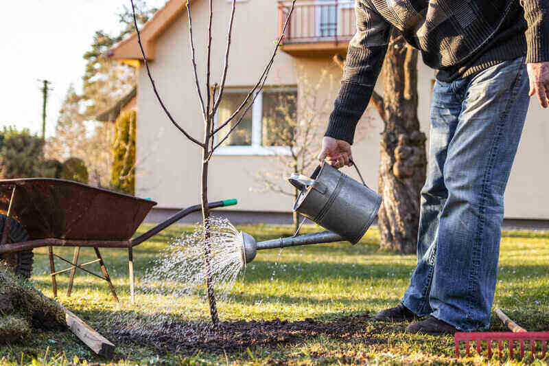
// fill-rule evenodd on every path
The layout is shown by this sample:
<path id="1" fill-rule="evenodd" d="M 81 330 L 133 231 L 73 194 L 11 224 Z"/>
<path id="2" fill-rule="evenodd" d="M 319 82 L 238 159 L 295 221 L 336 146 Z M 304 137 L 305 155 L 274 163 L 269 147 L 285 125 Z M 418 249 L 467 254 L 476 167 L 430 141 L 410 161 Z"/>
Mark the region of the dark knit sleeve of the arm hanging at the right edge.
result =
<path id="1" fill-rule="evenodd" d="M 520 0 L 524 8 L 526 30 L 526 62 L 549 61 L 549 1 Z"/>

